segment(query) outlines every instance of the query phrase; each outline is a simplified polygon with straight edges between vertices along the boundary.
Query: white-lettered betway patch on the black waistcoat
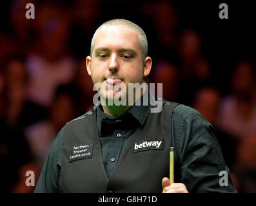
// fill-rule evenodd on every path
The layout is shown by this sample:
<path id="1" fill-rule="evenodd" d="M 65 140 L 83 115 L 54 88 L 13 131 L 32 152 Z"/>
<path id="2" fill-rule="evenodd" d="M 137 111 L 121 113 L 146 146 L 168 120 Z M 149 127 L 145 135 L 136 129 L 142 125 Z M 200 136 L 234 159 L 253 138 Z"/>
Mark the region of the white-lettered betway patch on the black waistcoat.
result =
<path id="1" fill-rule="evenodd" d="M 151 138 L 148 140 L 135 142 L 133 145 L 133 153 L 148 149 L 164 149 L 164 139 Z"/>

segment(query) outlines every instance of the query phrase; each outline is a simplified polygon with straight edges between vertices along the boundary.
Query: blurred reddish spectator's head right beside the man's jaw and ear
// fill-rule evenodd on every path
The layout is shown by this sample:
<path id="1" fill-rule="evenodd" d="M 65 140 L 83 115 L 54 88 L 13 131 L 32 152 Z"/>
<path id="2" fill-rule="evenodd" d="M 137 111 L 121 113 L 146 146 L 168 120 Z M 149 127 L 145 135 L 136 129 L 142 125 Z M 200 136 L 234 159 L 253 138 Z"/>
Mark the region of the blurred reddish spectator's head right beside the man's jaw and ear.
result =
<path id="1" fill-rule="evenodd" d="M 177 101 L 179 77 L 177 69 L 171 62 L 156 62 L 150 79 L 150 82 L 155 83 L 155 97 L 157 97 L 157 83 L 162 83 L 162 98 L 168 101 Z"/>

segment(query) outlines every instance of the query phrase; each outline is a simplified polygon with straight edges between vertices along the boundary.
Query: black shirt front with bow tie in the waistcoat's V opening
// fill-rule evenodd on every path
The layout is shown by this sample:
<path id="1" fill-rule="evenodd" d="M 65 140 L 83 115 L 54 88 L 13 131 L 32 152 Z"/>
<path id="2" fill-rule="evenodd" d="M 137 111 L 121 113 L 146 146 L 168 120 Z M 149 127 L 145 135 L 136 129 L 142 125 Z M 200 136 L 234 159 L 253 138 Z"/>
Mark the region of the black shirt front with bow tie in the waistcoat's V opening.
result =
<path id="1" fill-rule="evenodd" d="M 150 106 L 132 106 L 120 117 L 112 117 L 97 107 L 97 127 L 101 142 L 104 167 L 108 177 L 128 145 L 137 126 L 144 125 Z"/>

